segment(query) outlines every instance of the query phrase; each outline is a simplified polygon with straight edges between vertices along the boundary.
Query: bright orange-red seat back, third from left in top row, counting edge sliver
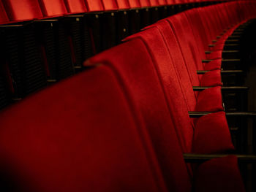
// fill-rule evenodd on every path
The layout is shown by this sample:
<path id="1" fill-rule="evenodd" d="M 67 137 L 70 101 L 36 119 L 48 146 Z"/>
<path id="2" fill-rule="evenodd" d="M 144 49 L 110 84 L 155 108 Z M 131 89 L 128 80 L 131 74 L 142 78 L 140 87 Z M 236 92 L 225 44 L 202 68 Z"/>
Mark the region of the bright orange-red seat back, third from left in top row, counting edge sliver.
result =
<path id="1" fill-rule="evenodd" d="M 59 17 L 68 13 L 64 0 L 38 0 L 45 17 Z"/>

